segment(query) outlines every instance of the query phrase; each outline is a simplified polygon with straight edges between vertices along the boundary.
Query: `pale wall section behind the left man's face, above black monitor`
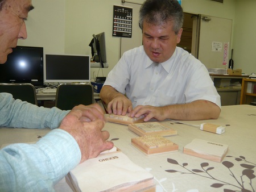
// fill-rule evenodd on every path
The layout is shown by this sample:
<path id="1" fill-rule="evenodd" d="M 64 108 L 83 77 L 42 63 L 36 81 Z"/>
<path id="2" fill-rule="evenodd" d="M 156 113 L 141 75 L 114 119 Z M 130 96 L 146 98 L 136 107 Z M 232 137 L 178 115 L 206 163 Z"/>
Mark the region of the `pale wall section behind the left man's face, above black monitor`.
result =
<path id="1" fill-rule="evenodd" d="M 18 45 L 43 47 L 44 53 L 64 53 L 65 1 L 32 0 L 35 9 L 26 21 L 26 40 Z"/>

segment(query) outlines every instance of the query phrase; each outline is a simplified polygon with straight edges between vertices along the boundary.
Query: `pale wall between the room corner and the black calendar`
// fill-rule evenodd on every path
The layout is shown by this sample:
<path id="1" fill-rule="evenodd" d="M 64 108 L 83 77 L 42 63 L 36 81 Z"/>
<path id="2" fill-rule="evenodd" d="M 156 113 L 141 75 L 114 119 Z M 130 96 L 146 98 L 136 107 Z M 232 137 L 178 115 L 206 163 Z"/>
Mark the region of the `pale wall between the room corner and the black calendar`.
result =
<path id="1" fill-rule="evenodd" d="M 107 76 L 118 61 L 119 37 L 112 37 L 113 5 L 121 5 L 121 1 L 67 0 L 66 5 L 65 53 L 91 55 L 92 35 L 105 32 L 109 68 L 91 68 L 91 77 L 102 76 L 102 72 Z"/>

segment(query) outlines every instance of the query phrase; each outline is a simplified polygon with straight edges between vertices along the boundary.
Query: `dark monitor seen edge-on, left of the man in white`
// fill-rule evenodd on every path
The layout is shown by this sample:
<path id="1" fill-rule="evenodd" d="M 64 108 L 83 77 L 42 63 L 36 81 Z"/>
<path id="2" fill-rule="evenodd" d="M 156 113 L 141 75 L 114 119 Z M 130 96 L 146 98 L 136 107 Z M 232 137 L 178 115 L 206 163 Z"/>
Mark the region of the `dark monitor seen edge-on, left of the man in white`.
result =
<path id="1" fill-rule="evenodd" d="M 107 68 L 108 62 L 106 58 L 106 41 L 105 32 L 101 32 L 98 35 L 93 35 L 93 39 L 89 46 L 92 50 L 92 61 L 100 63 L 101 68 Z M 93 64 L 93 63 L 92 63 Z"/>

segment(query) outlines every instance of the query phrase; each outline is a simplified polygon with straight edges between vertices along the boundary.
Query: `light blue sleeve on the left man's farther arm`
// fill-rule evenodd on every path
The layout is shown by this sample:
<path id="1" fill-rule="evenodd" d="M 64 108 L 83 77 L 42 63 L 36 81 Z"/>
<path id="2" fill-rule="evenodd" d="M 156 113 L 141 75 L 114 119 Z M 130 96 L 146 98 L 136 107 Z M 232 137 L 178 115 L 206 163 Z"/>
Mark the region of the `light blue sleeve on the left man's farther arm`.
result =
<path id="1" fill-rule="evenodd" d="M 59 127 L 61 120 L 69 111 L 59 108 L 44 108 L 14 100 L 8 93 L 0 93 L 0 126 L 16 128 Z"/>

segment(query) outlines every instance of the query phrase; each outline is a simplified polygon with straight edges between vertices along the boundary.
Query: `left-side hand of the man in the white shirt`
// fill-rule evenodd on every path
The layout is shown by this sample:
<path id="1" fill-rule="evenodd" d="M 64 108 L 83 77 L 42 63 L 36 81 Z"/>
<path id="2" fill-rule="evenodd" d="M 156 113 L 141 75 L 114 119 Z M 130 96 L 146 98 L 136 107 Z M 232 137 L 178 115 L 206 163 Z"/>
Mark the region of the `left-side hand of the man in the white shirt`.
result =
<path id="1" fill-rule="evenodd" d="M 108 113 L 115 115 L 126 115 L 133 109 L 131 101 L 125 95 L 115 97 L 108 104 Z"/>

